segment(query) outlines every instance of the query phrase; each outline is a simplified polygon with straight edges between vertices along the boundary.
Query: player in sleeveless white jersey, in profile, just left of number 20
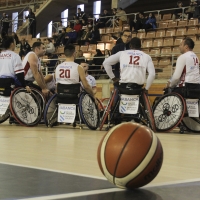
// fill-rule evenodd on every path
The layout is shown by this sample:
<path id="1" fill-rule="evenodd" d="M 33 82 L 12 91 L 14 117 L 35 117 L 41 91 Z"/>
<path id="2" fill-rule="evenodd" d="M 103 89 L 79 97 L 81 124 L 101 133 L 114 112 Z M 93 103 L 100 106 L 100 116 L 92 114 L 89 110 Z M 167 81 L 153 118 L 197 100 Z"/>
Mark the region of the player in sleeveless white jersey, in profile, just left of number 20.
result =
<path id="1" fill-rule="evenodd" d="M 41 42 L 35 42 L 33 43 L 32 50 L 33 51 L 29 52 L 24 57 L 22 62 L 26 84 L 31 87 L 38 88 L 33 84 L 33 81 L 36 81 L 44 96 L 47 97 L 50 91 L 47 89 L 46 83 L 44 81 L 40 61 L 40 57 L 42 57 L 46 52 L 45 46 Z"/>

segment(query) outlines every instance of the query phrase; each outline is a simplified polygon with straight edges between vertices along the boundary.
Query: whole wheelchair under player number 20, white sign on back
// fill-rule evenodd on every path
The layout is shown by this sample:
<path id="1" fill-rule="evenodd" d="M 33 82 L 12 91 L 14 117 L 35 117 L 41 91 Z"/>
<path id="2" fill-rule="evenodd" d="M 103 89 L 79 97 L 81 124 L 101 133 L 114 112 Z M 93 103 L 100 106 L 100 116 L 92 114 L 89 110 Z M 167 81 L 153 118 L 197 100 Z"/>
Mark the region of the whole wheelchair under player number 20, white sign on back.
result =
<path id="1" fill-rule="evenodd" d="M 98 106 L 89 94 L 85 91 L 80 92 L 80 88 L 81 85 L 79 83 L 70 85 L 57 84 L 57 94 L 54 94 L 49 99 L 44 111 L 44 121 L 47 127 L 57 125 L 58 121 L 67 124 L 72 123 L 73 127 L 76 127 L 76 122 L 79 120 L 79 126 L 82 128 L 83 120 L 89 129 L 96 130 L 98 128 L 100 122 Z M 59 111 L 59 106 L 62 105 L 75 105 L 76 115 L 73 121 L 65 122 L 63 120 L 67 117 L 67 111 L 61 111 L 61 109 Z M 65 116 L 61 116 L 58 112 L 62 112 Z"/>

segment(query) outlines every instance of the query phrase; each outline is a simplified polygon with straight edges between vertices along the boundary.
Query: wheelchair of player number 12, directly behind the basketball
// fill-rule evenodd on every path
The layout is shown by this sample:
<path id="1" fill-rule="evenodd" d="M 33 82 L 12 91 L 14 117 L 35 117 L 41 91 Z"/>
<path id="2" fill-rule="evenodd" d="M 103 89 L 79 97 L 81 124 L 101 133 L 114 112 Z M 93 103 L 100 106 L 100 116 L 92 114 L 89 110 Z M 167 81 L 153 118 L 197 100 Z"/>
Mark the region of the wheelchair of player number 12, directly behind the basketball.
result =
<path id="1" fill-rule="evenodd" d="M 135 114 L 129 113 L 128 107 L 124 108 L 122 102 L 122 98 L 124 98 L 123 95 L 126 95 L 130 100 L 132 99 L 128 104 L 130 105 L 130 109 L 132 109 L 131 105 L 136 106 Z M 134 102 L 134 100 L 137 100 L 137 102 Z M 142 123 L 155 131 L 155 123 L 150 102 L 142 86 L 138 88 L 138 85 L 134 83 L 121 84 L 118 89 L 114 89 L 101 118 L 100 130 L 102 130 L 106 121 L 106 130 L 109 130 L 111 124 L 116 125 L 121 123 L 122 120 Z"/>

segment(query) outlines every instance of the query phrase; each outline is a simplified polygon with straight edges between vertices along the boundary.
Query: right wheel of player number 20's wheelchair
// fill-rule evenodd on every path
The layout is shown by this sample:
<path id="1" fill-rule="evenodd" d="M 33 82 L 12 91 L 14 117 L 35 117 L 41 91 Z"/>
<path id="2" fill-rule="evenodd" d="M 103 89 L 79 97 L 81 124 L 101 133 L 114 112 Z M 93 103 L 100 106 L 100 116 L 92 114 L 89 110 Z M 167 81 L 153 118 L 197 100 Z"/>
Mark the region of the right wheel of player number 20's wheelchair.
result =
<path id="1" fill-rule="evenodd" d="M 95 100 L 87 93 L 82 93 L 79 99 L 80 115 L 89 129 L 96 130 L 99 126 L 100 116 Z"/>

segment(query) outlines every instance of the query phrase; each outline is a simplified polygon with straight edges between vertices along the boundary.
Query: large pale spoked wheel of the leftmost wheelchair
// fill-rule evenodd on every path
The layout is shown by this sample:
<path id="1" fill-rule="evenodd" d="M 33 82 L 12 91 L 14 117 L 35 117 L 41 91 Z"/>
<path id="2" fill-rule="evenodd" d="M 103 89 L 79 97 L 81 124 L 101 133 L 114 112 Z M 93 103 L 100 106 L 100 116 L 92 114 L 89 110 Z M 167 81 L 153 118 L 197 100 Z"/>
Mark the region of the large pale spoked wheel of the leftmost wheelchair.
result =
<path id="1" fill-rule="evenodd" d="M 35 126 L 42 117 L 40 102 L 34 93 L 24 88 L 16 88 L 10 97 L 10 110 L 14 118 L 23 126 Z"/>

